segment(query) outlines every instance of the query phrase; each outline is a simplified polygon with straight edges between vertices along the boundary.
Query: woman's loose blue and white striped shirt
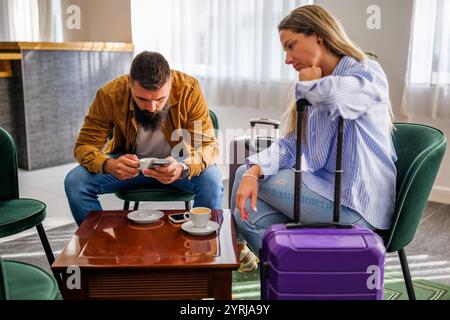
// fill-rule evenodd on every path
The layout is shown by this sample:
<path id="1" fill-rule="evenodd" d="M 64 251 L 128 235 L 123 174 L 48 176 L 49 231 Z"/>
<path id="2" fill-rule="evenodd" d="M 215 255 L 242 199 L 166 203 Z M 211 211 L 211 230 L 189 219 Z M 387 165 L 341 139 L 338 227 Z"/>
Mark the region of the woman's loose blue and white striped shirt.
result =
<path id="1" fill-rule="evenodd" d="M 397 156 L 390 132 L 389 86 L 381 66 L 373 60 L 343 57 L 330 76 L 299 81 L 296 98 L 306 98 L 312 105 L 305 112 L 305 185 L 334 200 L 338 117 L 342 116 L 342 204 L 374 227 L 388 229 L 395 202 Z M 293 168 L 295 145 L 295 133 L 281 137 L 247 158 L 247 166 L 258 164 L 265 179 L 279 169 Z"/>

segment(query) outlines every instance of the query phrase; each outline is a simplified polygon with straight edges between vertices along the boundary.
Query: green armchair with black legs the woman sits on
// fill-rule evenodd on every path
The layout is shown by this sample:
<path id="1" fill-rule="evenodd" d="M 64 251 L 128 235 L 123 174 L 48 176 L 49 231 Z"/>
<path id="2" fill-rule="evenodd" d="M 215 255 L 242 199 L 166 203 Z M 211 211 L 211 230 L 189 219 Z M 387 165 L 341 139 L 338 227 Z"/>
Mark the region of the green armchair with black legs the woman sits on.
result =
<path id="1" fill-rule="evenodd" d="M 382 234 L 387 252 L 398 252 L 410 300 L 415 300 L 405 247 L 413 240 L 445 153 L 445 135 L 432 127 L 395 123 L 397 190 L 391 228 Z"/>

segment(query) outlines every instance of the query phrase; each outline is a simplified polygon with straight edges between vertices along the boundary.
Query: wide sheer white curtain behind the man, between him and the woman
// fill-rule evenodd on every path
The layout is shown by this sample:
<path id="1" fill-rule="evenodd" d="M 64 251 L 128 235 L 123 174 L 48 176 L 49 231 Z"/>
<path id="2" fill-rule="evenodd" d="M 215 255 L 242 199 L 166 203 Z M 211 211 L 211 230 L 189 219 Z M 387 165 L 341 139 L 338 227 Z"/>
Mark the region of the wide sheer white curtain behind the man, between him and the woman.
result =
<path id="1" fill-rule="evenodd" d="M 210 105 L 283 109 L 296 79 L 277 25 L 306 0 L 131 0 L 136 53 L 200 80 Z"/>

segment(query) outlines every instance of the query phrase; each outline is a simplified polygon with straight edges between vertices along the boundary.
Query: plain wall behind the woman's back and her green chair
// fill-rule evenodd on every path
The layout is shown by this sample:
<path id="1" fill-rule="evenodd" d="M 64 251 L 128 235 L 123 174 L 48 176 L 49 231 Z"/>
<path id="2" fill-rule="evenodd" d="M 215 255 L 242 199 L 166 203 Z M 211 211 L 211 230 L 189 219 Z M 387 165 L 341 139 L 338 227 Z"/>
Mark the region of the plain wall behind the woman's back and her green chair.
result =
<path id="1" fill-rule="evenodd" d="M 364 51 L 374 52 L 389 80 L 396 121 L 417 122 L 442 130 L 450 137 L 450 119 L 401 115 L 400 103 L 408 63 L 412 0 L 316 0 L 342 23 L 349 37 Z M 366 26 L 370 5 L 381 9 L 381 29 Z M 446 152 L 430 200 L 450 203 L 450 152 Z"/>

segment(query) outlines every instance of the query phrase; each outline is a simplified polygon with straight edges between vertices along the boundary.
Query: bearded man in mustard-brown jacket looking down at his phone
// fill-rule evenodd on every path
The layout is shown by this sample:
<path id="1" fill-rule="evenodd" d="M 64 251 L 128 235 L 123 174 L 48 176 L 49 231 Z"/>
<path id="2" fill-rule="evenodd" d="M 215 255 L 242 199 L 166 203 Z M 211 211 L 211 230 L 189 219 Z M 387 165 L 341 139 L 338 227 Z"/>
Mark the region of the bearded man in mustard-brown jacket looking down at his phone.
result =
<path id="1" fill-rule="evenodd" d="M 78 225 L 102 209 L 99 194 L 134 187 L 168 185 L 195 193 L 194 206 L 221 207 L 218 145 L 199 83 L 170 70 L 159 53 L 140 53 L 129 75 L 98 90 L 74 153 L 80 166 L 67 175 L 65 191 Z M 171 163 L 140 171 L 146 157 Z"/>

